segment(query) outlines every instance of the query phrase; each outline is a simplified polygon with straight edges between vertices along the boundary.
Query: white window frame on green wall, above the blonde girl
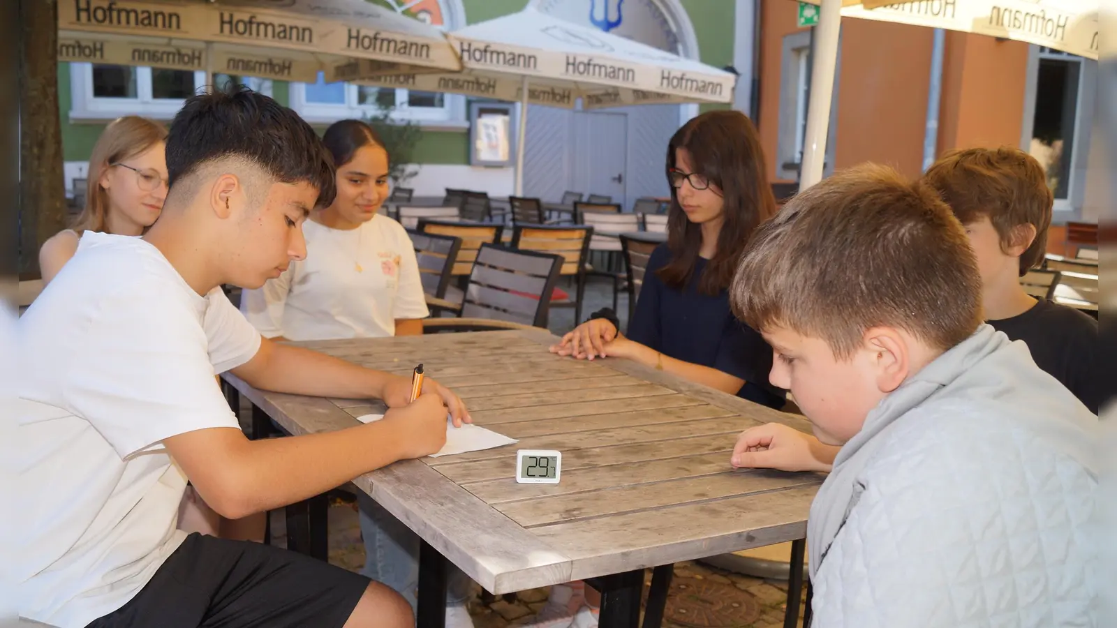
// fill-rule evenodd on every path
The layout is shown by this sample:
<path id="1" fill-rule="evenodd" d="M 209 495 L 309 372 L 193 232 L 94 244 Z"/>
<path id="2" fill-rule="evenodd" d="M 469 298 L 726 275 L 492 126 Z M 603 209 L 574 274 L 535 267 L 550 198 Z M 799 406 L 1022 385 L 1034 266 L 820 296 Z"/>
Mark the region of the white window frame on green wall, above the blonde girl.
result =
<path id="1" fill-rule="evenodd" d="M 179 113 L 183 98 L 152 97 L 151 68 L 133 66 L 136 76 L 135 98 L 109 98 L 93 95 L 93 64 L 70 63 L 70 122 L 101 122 L 122 115 L 142 115 L 152 120 L 170 121 Z M 261 94 L 271 95 L 271 80 L 246 77 L 248 86 Z M 206 84 L 206 73 L 194 73 L 194 85 Z"/>

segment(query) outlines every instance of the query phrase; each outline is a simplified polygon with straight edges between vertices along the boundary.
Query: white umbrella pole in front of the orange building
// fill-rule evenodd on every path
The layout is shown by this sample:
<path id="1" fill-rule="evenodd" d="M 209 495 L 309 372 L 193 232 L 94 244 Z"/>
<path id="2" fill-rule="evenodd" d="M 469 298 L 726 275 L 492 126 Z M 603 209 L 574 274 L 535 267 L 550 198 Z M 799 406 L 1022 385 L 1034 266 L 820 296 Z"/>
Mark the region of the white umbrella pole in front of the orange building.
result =
<path id="1" fill-rule="evenodd" d="M 799 189 L 822 180 L 833 97 L 834 66 L 838 65 L 838 34 L 841 31 L 842 0 L 822 0 L 819 25 L 814 28 L 814 58 L 811 59 L 811 99 L 806 110 L 806 137 L 799 171 Z"/>

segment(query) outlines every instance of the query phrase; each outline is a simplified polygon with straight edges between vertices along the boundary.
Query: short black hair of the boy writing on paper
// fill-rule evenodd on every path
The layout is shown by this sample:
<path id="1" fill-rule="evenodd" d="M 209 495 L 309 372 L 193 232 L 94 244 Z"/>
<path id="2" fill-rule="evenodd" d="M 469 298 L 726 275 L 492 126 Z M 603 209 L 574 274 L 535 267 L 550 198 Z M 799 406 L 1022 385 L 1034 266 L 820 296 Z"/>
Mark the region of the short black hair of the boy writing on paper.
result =
<path id="1" fill-rule="evenodd" d="M 275 182 L 309 183 L 317 207 L 334 201 L 334 162 L 322 139 L 302 117 L 244 85 L 187 98 L 166 137 L 171 191 L 203 164 L 239 158 L 258 165 Z"/>

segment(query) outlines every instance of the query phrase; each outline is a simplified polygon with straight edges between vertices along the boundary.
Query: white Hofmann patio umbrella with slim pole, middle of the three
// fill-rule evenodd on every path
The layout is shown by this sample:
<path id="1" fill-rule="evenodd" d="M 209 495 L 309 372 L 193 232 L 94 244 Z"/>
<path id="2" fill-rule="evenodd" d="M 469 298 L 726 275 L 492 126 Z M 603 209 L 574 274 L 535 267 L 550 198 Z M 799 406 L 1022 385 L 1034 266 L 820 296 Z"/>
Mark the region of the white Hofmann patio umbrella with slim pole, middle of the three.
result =
<path id="1" fill-rule="evenodd" d="M 523 193 L 529 103 L 585 108 L 640 103 L 729 103 L 736 75 L 528 7 L 447 34 L 465 74 L 408 76 L 417 89 L 464 93 L 523 105 L 516 144 L 516 194 Z M 385 87 L 400 77 L 363 77 Z M 384 83 L 386 82 L 386 83 Z"/>

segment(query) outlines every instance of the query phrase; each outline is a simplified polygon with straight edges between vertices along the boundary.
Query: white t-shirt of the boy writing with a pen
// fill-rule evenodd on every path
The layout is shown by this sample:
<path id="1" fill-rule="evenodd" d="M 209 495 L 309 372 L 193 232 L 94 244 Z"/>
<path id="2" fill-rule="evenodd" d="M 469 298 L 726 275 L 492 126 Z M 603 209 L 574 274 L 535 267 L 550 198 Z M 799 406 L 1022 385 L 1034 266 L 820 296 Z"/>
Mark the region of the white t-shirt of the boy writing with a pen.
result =
<path id="1" fill-rule="evenodd" d="M 164 438 L 238 428 L 213 375 L 259 333 L 143 239 L 86 231 L 19 321 L 20 615 L 82 627 L 140 591 L 185 537 Z"/>

